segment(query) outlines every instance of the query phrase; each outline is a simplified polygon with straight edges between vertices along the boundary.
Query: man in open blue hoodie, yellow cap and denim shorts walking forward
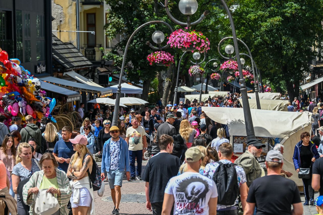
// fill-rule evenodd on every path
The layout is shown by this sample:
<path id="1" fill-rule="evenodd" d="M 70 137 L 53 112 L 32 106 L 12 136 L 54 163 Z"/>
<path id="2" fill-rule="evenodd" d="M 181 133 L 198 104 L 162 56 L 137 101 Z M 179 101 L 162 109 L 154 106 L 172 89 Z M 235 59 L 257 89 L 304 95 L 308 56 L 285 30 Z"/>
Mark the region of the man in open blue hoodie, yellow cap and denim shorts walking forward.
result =
<path id="1" fill-rule="evenodd" d="M 101 178 L 104 172 L 108 173 L 111 197 L 114 203 L 112 214 L 119 215 L 119 204 L 121 200 L 121 186 L 124 169 L 126 169 L 127 180 L 130 179 L 130 161 L 127 142 L 119 137 L 119 128 L 110 128 L 111 138 L 103 145 Z"/>

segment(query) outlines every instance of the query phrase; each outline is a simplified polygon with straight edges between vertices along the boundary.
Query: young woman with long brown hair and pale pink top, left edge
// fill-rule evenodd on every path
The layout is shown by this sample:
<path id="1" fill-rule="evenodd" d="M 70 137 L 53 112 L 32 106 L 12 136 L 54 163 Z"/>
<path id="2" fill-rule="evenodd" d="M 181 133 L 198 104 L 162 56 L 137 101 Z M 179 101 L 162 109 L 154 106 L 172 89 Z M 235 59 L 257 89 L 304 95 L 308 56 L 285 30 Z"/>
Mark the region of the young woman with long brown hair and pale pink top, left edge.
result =
<path id="1" fill-rule="evenodd" d="M 2 142 L 2 147 L 0 148 L 0 160 L 5 164 L 5 168 L 7 168 L 10 172 L 14 168 L 16 164 L 16 147 L 14 146 L 14 136 L 7 134 Z M 15 193 L 10 186 L 9 190 L 10 195 L 15 198 Z"/>

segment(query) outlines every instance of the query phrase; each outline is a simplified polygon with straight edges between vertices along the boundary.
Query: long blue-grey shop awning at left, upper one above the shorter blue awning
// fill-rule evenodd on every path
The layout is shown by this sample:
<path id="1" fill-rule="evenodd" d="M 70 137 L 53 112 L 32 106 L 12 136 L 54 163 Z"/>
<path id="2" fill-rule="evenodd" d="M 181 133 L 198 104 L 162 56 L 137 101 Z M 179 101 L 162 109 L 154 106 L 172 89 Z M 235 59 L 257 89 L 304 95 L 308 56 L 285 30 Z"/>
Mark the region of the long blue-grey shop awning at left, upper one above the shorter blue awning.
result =
<path id="1" fill-rule="evenodd" d="M 62 87 L 65 86 L 65 88 L 73 87 L 75 90 L 100 93 L 101 96 L 112 93 L 112 91 L 108 88 L 94 87 L 94 86 L 90 86 L 87 84 L 81 84 L 81 83 L 74 82 L 74 81 L 68 81 L 65 79 L 57 78 L 57 77 L 48 76 L 48 77 L 40 77 L 39 79 L 42 81 L 47 81 L 49 83 L 55 83 L 58 85 L 62 85 Z"/>

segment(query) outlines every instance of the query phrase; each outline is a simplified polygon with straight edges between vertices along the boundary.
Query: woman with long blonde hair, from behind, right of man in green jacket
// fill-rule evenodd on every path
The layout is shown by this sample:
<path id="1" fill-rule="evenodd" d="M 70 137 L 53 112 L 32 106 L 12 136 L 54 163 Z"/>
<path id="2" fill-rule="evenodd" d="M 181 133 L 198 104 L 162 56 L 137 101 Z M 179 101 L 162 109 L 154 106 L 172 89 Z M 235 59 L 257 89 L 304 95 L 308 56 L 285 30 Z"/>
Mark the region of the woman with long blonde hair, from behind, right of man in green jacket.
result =
<path id="1" fill-rule="evenodd" d="M 51 122 L 47 123 L 45 132 L 42 134 L 41 154 L 45 152 L 53 153 L 54 146 L 58 140 L 56 127 Z"/>

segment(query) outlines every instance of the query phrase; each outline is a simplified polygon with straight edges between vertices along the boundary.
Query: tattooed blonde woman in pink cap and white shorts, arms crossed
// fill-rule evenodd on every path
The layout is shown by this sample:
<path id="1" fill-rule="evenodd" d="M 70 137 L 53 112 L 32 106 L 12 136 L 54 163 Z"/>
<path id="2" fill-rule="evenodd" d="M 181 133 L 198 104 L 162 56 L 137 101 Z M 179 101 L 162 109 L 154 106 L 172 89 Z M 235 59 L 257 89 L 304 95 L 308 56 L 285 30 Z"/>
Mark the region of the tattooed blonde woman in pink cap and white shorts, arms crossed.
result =
<path id="1" fill-rule="evenodd" d="M 88 140 L 83 135 L 78 135 L 70 141 L 75 151 L 67 170 L 68 178 L 72 179 L 72 212 L 75 215 L 85 215 L 90 210 L 90 214 L 95 215 L 93 188 L 88 175 L 93 166 L 92 156 L 86 147 Z"/>

